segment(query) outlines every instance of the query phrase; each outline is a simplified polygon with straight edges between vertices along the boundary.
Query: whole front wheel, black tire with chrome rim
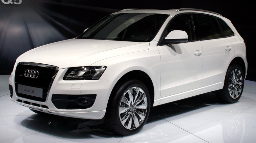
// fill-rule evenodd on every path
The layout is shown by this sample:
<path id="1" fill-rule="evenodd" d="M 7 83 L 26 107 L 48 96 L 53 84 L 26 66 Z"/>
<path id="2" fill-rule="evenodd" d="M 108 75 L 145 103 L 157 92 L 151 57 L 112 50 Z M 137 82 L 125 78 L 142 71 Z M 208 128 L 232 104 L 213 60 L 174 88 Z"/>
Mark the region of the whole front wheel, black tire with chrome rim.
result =
<path id="1" fill-rule="evenodd" d="M 139 132 L 150 111 L 147 87 L 139 80 L 126 80 L 117 87 L 113 95 L 105 117 L 107 127 L 119 135 Z"/>

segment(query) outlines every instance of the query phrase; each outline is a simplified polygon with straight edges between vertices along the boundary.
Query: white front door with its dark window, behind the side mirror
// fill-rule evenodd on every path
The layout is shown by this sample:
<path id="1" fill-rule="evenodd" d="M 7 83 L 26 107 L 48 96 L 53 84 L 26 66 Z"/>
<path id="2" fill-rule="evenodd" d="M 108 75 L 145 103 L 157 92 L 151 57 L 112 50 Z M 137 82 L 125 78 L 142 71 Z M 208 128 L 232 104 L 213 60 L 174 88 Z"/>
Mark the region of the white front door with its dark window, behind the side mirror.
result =
<path id="1" fill-rule="evenodd" d="M 191 14 L 172 18 L 165 35 L 172 30 L 187 32 L 188 42 L 160 43 L 157 47 L 161 57 L 160 104 L 200 94 L 203 84 L 203 48 L 200 41 L 195 41 Z"/>

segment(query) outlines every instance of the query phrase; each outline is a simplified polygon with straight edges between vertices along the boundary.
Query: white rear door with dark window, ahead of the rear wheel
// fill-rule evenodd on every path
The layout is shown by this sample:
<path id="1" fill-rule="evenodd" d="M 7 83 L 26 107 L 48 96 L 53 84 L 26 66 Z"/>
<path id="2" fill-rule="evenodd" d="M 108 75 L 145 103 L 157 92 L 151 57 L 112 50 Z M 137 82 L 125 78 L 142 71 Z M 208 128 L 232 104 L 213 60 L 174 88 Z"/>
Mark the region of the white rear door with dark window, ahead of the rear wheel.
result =
<path id="1" fill-rule="evenodd" d="M 203 87 L 224 82 L 226 68 L 234 54 L 233 44 L 214 16 L 193 14 L 193 20 L 196 40 L 203 46 Z"/>

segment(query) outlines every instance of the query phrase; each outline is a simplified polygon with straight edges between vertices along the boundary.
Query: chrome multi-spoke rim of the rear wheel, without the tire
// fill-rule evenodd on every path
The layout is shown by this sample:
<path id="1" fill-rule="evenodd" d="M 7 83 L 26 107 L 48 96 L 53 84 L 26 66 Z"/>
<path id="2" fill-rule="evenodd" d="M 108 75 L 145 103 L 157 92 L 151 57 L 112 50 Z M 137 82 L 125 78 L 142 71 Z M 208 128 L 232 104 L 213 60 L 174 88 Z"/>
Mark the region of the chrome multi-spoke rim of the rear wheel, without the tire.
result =
<path id="1" fill-rule="evenodd" d="M 229 76 L 229 95 L 236 99 L 241 95 L 243 89 L 243 76 L 239 69 L 234 69 Z"/>

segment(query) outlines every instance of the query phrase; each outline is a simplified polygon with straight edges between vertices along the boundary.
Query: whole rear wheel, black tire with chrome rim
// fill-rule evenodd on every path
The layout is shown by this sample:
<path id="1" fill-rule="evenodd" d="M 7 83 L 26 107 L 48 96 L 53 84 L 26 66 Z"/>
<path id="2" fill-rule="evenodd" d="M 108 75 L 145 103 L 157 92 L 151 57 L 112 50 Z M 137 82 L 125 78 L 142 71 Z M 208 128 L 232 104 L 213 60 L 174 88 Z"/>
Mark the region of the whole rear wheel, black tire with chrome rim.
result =
<path id="1" fill-rule="evenodd" d="M 237 102 L 243 93 L 244 89 L 244 72 L 238 64 L 233 64 L 228 67 L 223 89 L 216 92 L 217 98 L 225 103 Z"/>

